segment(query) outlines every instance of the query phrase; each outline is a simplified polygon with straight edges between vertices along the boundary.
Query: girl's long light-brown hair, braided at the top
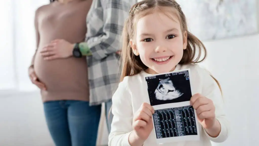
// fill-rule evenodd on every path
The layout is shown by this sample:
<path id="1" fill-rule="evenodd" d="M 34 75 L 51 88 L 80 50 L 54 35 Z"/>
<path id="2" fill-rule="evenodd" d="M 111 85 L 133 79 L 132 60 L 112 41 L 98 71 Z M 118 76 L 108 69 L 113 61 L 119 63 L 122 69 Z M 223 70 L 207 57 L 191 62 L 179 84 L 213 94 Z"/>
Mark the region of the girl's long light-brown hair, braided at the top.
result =
<path id="1" fill-rule="evenodd" d="M 147 14 L 151 14 L 152 10 L 155 9 L 162 11 L 163 8 L 171 8 L 171 12 L 178 16 L 179 22 L 181 23 L 182 32 L 187 32 L 187 48 L 183 51 L 183 57 L 179 64 L 199 63 L 205 60 L 207 56 L 206 48 L 196 36 L 188 31 L 185 15 L 183 14 L 181 6 L 175 0 L 143 0 L 131 7 L 130 15 L 124 24 L 121 54 L 122 71 L 120 81 L 123 81 L 125 76 L 136 75 L 148 68 L 142 63 L 139 56 L 134 55 L 130 45 L 130 39 L 134 38 L 135 36 L 134 28 L 138 18 L 141 18 Z M 203 55 L 202 52 L 204 52 Z M 212 78 L 217 82 L 221 91 L 219 82 L 213 76 Z"/>

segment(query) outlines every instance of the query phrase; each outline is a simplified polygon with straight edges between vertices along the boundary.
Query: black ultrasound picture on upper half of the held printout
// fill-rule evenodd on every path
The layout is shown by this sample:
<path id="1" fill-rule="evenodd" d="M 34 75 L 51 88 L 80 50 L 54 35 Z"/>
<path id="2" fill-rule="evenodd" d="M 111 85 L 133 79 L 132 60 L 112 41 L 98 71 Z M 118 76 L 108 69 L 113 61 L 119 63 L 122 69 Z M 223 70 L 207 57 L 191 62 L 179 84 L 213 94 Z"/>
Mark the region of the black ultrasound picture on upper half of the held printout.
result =
<path id="1" fill-rule="evenodd" d="M 146 77 L 146 82 L 152 106 L 191 99 L 188 70 Z"/>

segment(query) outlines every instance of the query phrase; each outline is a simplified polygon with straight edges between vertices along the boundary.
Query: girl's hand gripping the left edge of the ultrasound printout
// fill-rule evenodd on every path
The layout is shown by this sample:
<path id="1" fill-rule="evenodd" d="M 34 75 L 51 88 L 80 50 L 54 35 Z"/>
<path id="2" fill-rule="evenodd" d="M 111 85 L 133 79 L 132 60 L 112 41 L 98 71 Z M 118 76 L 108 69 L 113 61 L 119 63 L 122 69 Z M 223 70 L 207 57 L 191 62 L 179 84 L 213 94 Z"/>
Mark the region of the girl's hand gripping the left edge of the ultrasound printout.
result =
<path id="1" fill-rule="evenodd" d="M 153 130 L 152 114 L 155 113 L 153 107 L 148 103 L 143 103 L 133 117 L 133 129 L 141 140 L 146 140 Z"/>

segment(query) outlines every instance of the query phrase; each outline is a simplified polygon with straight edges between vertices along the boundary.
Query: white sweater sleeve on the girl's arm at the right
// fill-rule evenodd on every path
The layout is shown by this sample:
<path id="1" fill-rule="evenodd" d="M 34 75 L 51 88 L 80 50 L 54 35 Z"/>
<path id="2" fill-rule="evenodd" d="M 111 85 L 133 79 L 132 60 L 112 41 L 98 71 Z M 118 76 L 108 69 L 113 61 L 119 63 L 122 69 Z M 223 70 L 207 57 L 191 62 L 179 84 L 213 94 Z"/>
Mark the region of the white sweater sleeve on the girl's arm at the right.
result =
<path id="1" fill-rule="evenodd" d="M 210 72 L 205 69 L 200 70 L 200 75 L 202 75 L 203 87 L 202 87 L 202 95 L 207 98 L 210 98 L 213 101 L 215 106 L 215 115 L 217 120 L 221 125 L 220 134 L 217 137 L 211 137 L 208 133 L 204 130 L 205 135 L 213 142 L 224 142 L 229 134 L 229 122 L 227 120 L 225 109 L 224 109 L 224 101 L 221 95 L 220 88 L 217 82 L 213 79 Z"/>

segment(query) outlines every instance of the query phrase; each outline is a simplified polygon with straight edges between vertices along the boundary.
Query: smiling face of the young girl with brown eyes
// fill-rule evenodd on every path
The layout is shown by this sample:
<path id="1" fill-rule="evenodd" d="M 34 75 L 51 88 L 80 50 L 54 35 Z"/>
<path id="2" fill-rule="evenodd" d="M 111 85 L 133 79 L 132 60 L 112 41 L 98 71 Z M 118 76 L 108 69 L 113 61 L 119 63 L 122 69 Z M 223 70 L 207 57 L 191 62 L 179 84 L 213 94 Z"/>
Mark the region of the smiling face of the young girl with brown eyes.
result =
<path id="1" fill-rule="evenodd" d="M 146 72 L 174 70 L 187 45 L 187 33 L 182 33 L 178 17 L 155 11 L 136 22 L 135 39 L 130 43 L 134 54 L 148 67 Z"/>

